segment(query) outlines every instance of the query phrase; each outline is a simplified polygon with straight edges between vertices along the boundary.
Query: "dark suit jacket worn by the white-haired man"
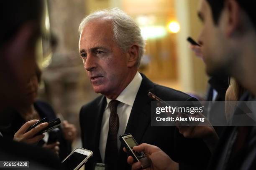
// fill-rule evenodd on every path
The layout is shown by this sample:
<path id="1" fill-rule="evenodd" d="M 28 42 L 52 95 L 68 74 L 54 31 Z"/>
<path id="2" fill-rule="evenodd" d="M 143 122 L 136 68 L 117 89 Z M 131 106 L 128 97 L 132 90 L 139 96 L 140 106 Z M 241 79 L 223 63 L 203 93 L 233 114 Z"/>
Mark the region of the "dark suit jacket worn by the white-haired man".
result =
<path id="1" fill-rule="evenodd" d="M 174 126 L 151 126 L 151 97 L 148 91 L 153 92 L 162 100 L 184 101 L 196 100 L 189 95 L 161 85 L 154 84 L 141 74 L 143 80 L 136 95 L 131 115 L 125 133 L 131 133 L 138 143 L 148 143 L 161 148 L 171 158 L 174 158 Z M 82 106 L 80 111 L 80 126 L 83 148 L 92 150 L 94 156 L 86 163 L 86 169 L 91 170 L 93 163 L 102 163 L 99 140 L 102 124 L 102 115 L 106 107 L 106 97 L 97 97 L 92 102 Z M 183 149 L 181 148 L 181 151 Z M 185 154 L 185 153 L 180 153 Z M 127 154 L 123 152 L 122 146 L 119 150 L 120 170 L 131 169 L 127 164 Z"/>

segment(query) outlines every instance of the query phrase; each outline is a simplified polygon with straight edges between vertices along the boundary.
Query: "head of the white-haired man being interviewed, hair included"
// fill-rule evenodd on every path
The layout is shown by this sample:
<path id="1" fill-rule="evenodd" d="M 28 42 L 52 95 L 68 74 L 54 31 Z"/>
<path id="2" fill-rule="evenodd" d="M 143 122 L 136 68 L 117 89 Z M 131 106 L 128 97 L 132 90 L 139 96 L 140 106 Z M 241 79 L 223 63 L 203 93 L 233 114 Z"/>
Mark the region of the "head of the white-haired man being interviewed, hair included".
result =
<path id="1" fill-rule="evenodd" d="M 79 52 L 95 92 L 117 97 L 131 82 L 144 52 L 138 25 L 118 9 L 101 10 L 79 26 Z"/>

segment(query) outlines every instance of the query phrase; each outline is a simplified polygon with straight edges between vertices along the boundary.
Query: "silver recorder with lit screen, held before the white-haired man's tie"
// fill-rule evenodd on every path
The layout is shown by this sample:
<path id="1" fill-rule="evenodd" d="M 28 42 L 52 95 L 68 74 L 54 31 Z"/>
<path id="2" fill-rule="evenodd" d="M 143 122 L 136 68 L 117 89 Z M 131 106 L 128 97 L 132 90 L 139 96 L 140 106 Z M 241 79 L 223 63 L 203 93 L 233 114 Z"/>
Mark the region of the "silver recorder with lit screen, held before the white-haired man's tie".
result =
<path id="1" fill-rule="evenodd" d="M 130 133 L 125 135 L 120 135 L 119 140 L 121 141 L 123 146 L 126 148 L 128 153 L 133 157 L 133 159 L 137 162 L 138 161 L 141 162 L 141 169 L 147 168 L 151 165 L 151 160 L 147 158 L 145 153 L 133 151 L 133 147 L 138 146 L 138 143 Z"/>

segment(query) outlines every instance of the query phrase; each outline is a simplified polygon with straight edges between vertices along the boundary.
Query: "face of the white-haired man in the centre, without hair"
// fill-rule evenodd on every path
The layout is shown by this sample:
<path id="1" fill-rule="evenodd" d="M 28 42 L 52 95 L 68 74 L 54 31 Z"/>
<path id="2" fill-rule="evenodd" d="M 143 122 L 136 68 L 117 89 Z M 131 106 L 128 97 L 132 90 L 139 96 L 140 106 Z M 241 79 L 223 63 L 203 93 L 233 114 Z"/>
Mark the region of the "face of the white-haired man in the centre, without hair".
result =
<path id="1" fill-rule="evenodd" d="M 87 23 L 80 35 L 79 52 L 96 93 L 113 95 L 127 84 L 127 53 L 113 40 L 110 21 L 98 19 Z"/>

